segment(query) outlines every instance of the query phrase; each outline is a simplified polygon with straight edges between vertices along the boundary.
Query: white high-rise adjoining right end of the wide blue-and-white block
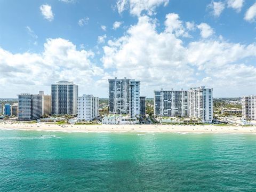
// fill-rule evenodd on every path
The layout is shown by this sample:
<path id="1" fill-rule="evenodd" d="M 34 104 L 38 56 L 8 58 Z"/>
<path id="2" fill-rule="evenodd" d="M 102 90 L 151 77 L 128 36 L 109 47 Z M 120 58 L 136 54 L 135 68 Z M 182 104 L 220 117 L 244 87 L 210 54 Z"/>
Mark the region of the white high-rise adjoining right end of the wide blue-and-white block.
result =
<path id="1" fill-rule="evenodd" d="M 203 123 L 212 123 L 213 89 L 200 86 L 188 90 L 188 116 L 201 119 Z"/>

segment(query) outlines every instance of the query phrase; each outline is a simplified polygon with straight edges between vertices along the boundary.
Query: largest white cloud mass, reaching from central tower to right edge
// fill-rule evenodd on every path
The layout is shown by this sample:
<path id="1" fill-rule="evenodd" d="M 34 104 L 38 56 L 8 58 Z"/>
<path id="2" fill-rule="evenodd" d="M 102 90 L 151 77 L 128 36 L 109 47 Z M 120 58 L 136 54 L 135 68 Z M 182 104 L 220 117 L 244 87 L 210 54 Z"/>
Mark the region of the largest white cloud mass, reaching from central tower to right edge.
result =
<path id="1" fill-rule="evenodd" d="M 178 18 L 177 15 L 172 17 Z M 138 19 L 138 23 L 130 26 L 123 36 L 110 39 L 103 46 L 103 66 L 113 70 L 106 76 L 139 79 L 141 94 L 150 94 L 148 90 L 161 87 L 187 89 L 198 85 L 214 87 L 219 94 L 227 90 L 227 95 L 232 91 L 233 95 L 239 95 L 237 89 L 247 92 L 255 89 L 256 67 L 244 60 L 249 59 L 250 63 L 250 58 L 256 58 L 256 44 L 206 38 L 213 34 L 213 29 L 206 23 L 196 25 L 205 38 L 184 44 L 180 39 L 182 36 L 177 36 L 174 29 L 180 28 L 180 22 L 186 22 L 174 25 L 178 27 L 173 27 L 172 23 L 171 28 L 161 31 L 154 19 L 145 15 Z M 166 15 L 165 23 L 168 19 Z M 105 81 L 106 76 L 100 82 Z M 248 85 L 246 81 L 250 81 Z"/>

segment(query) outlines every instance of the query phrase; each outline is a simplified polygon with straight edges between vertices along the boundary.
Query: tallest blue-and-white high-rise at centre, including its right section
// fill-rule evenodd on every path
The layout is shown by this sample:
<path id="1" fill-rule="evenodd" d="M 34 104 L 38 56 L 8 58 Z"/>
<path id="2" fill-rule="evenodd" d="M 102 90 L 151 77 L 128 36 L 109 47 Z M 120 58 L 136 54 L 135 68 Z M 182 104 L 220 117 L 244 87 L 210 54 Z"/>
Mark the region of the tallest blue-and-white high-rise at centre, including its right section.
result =
<path id="1" fill-rule="evenodd" d="M 108 79 L 109 113 L 130 114 L 135 118 L 140 114 L 140 82 L 134 79 Z"/>

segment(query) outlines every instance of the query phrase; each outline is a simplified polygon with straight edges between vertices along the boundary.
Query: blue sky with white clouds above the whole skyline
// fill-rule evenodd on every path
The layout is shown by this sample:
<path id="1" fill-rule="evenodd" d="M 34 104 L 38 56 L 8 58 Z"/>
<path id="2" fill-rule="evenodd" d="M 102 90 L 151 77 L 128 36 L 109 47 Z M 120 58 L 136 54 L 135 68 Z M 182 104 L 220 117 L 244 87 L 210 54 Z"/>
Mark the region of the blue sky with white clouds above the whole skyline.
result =
<path id="1" fill-rule="evenodd" d="M 255 0 L 0 0 L 0 98 L 51 93 L 108 97 L 109 78 L 154 90 L 256 94 Z"/>

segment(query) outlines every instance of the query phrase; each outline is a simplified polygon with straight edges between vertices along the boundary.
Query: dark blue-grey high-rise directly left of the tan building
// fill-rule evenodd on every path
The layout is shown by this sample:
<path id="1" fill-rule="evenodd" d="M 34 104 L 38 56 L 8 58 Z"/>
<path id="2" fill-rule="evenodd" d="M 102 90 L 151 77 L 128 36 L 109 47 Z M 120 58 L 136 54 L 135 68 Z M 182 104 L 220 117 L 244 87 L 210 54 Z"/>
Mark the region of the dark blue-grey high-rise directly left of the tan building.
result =
<path id="1" fill-rule="evenodd" d="M 42 97 L 23 93 L 18 95 L 18 119 L 31 121 L 42 115 Z"/>

